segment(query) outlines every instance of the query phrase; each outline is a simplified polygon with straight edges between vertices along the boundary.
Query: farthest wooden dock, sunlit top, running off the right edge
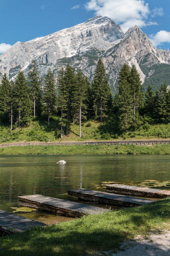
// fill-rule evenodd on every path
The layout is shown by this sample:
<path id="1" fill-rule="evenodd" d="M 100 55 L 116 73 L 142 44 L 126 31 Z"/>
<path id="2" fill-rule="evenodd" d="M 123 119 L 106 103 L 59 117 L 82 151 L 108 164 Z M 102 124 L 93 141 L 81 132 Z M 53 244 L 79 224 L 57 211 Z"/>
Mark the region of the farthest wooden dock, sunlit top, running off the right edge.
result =
<path id="1" fill-rule="evenodd" d="M 165 198 L 170 196 L 170 190 L 160 190 L 145 187 L 135 187 L 123 184 L 107 184 L 105 185 L 107 192 L 133 195 L 150 198 Z"/>

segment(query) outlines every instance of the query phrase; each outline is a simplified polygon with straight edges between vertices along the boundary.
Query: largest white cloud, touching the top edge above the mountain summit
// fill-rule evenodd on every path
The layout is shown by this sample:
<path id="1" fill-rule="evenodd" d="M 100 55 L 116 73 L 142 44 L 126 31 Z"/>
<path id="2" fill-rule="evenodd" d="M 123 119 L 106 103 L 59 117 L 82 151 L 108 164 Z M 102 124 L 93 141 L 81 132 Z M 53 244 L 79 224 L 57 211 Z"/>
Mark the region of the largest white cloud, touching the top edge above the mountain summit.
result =
<path id="1" fill-rule="evenodd" d="M 86 10 L 95 11 L 95 14 L 107 16 L 118 23 L 124 31 L 129 27 L 145 27 L 157 25 L 156 22 L 147 22 L 150 10 L 144 0 L 88 0 Z M 152 15 L 161 15 L 162 9 L 155 8 Z"/>

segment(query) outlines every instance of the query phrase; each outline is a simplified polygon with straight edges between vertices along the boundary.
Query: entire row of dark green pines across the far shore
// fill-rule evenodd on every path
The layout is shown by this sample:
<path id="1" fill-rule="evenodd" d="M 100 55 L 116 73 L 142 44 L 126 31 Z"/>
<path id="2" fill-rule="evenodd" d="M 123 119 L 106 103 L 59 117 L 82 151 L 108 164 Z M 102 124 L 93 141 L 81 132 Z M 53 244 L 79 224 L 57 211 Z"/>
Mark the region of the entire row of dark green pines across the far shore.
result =
<path id="1" fill-rule="evenodd" d="M 87 118 L 111 115 L 114 126 L 120 132 L 139 129 L 141 123 L 170 121 L 170 90 L 163 83 L 159 90 L 149 85 L 144 93 L 135 66 L 124 64 L 118 75 L 117 93 L 112 97 L 106 71 L 98 60 L 93 80 L 69 64 L 61 68 L 55 79 L 49 68 L 44 79 L 39 76 L 36 61 L 32 61 L 27 78 L 20 71 L 14 81 L 3 75 L 0 84 L 0 120 L 27 124 L 35 118 L 43 118 L 49 126 L 50 118 L 59 117 L 60 137 L 68 134 L 72 122 L 79 124 Z M 114 129 L 114 127 L 112 127 Z"/>

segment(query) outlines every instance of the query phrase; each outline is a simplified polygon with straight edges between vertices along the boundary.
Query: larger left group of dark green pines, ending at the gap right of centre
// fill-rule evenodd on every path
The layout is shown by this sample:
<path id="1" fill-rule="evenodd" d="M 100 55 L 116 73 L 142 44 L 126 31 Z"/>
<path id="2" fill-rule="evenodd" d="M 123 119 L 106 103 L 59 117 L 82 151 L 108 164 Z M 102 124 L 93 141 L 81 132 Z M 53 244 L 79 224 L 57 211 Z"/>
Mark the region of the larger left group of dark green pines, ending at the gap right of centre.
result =
<path id="1" fill-rule="evenodd" d="M 86 76 L 69 64 L 61 68 L 55 80 L 49 68 L 42 82 L 35 61 L 31 62 L 27 78 L 20 71 L 15 81 L 9 81 L 3 75 L 0 85 L 0 116 L 1 120 L 10 120 L 10 130 L 17 122 L 29 123 L 33 118 L 60 115 L 60 137 L 68 134 L 71 122 L 79 123 L 81 137 L 81 121 L 111 109 L 112 95 L 102 61 L 96 65 L 92 84 Z"/>

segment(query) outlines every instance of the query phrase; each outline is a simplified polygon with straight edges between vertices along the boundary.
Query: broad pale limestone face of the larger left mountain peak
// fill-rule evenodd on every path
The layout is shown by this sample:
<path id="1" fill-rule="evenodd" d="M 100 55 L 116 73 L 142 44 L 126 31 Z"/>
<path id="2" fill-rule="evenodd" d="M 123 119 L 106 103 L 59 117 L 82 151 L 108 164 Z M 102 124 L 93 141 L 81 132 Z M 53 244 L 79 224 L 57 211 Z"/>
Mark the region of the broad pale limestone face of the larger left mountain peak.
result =
<path id="1" fill-rule="evenodd" d="M 57 59 L 82 55 L 91 48 L 107 50 L 123 37 L 123 31 L 107 17 L 95 16 L 72 28 L 31 41 L 17 42 L 0 56 L 0 73 L 9 78 L 18 69 L 25 70 L 31 60 L 36 60 L 43 72 L 52 68 Z"/>

